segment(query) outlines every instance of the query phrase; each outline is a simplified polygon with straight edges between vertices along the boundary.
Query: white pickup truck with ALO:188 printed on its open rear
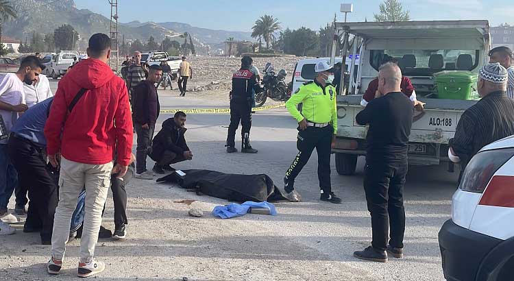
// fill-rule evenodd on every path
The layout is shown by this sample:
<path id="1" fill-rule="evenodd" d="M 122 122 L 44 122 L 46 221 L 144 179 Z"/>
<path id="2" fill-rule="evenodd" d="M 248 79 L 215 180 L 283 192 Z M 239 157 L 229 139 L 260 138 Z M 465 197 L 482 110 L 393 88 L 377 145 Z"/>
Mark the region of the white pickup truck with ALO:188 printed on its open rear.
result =
<path id="1" fill-rule="evenodd" d="M 434 74 L 459 70 L 478 73 L 488 60 L 488 21 L 334 23 L 334 26 L 341 38 L 356 36 L 353 56 L 360 55 L 358 71 L 350 74 L 356 75 L 356 79 L 348 80 L 352 95 L 339 93 L 337 97 L 338 131 L 332 149 L 337 172 L 352 175 L 358 156 L 366 154 L 367 127 L 358 125 L 355 117 L 363 110 L 362 95 L 369 82 L 378 76 L 384 55 L 399 60 L 402 74 L 415 86 L 417 99 L 426 103 L 424 112 L 417 112 L 420 114 L 414 119 L 409 164 L 437 165 L 448 161 L 448 140 L 453 138 L 461 114 L 476 101 L 433 98 L 437 92 Z M 336 55 L 339 54 L 332 51 L 332 62 Z M 451 164 L 449 170 L 453 170 Z"/>

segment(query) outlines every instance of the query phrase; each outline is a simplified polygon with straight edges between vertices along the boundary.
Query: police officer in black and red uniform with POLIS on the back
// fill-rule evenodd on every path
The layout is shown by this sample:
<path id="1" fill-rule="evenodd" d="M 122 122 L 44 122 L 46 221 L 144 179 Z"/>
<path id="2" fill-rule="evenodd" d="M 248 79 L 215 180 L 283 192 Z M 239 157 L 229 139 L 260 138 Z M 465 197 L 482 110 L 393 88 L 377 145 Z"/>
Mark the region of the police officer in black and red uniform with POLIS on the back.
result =
<path id="1" fill-rule="evenodd" d="M 260 93 L 256 75 L 250 71 L 254 61 L 249 56 L 241 59 L 241 69 L 232 75 L 232 91 L 230 92 L 230 125 L 227 136 L 227 152 L 237 152 L 236 130 L 241 121 L 241 152 L 256 154 L 257 149 L 250 145 L 249 134 L 252 127 L 252 89 Z"/>

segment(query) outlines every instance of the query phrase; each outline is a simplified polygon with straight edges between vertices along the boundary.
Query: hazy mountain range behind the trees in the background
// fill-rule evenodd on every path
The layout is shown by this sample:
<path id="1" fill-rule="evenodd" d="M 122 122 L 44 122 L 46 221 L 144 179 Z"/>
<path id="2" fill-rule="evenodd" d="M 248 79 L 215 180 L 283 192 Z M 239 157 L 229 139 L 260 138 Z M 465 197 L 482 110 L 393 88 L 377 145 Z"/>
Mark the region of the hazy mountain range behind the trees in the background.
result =
<path id="1" fill-rule="evenodd" d="M 107 1 L 106 1 L 107 2 Z M 77 9 L 75 1 L 62 0 L 56 3 L 48 3 L 47 0 L 16 0 L 12 1 L 18 11 L 18 19 L 3 23 L 3 34 L 12 38 L 30 41 L 32 32 L 40 34 L 53 34 L 53 30 L 63 24 L 73 26 L 80 34 L 77 46 L 83 51 L 87 47 L 88 38 L 97 32 L 109 34 L 110 20 L 106 16 L 91 12 L 87 9 Z M 223 30 L 210 30 L 193 27 L 185 23 L 130 23 L 119 24 L 119 43 L 125 36 L 125 40 L 142 40 L 146 42 L 150 36 L 154 36 L 157 42 L 170 37 L 181 44 L 184 39 L 181 34 L 188 32 L 193 37 L 199 53 L 206 53 L 207 45 L 211 49 L 222 48 L 223 41 L 233 37 L 235 40 L 250 40 L 249 32 L 226 32 Z"/>

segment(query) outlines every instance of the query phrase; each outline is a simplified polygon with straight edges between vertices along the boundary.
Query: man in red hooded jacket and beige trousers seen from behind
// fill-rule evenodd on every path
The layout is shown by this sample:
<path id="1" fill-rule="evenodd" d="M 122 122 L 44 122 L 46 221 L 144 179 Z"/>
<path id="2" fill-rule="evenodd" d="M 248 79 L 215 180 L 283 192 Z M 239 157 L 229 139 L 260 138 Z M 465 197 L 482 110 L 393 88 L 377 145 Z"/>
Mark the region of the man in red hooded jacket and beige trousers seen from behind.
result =
<path id="1" fill-rule="evenodd" d="M 96 261 L 95 245 L 111 173 L 127 172 L 132 151 L 132 117 L 127 86 L 108 64 L 111 40 L 94 34 L 82 60 L 62 77 L 45 125 L 47 153 L 60 165 L 59 204 L 53 221 L 51 259 L 47 271 L 58 274 L 69 237 L 77 197 L 86 187 L 86 217 L 80 241 L 79 277 L 105 269 Z M 114 149 L 117 164 L 113 169 Z"/>

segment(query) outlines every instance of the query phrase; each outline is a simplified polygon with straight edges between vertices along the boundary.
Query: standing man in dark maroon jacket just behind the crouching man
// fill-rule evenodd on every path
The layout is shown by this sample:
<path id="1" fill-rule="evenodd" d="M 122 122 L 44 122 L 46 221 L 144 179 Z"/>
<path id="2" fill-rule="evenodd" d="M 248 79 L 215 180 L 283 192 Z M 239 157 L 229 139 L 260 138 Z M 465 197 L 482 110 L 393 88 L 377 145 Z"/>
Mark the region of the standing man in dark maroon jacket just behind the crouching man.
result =
<path id="1" fill-rule="evenodd" d="M 151 180 L 154 175 L 147 171 L 147 153 L 154 136 L 157 118 L 159 117 L 159 97 L 156 83 L 160 81 L 162 69 L 158 65 L 150 66 L 147 80 L 134 87 L 132 95 L 132 112 L 134 129 L 136 130 L 136 178 Z"/>

